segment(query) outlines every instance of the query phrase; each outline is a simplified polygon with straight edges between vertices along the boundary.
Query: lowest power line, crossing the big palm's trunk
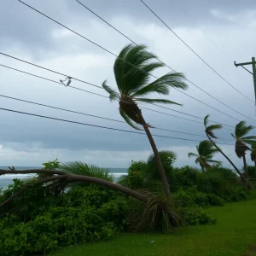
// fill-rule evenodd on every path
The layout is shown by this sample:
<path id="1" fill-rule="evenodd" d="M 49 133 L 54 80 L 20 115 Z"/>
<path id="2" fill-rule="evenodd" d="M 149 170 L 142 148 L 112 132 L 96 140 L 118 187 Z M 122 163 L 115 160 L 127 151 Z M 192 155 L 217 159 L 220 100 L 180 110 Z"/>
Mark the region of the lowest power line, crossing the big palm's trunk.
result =
<path id="1" fill-rule="evenodd" d="M 53 118 L 53 117 L 49 117 L 49 116 L 45 116 L 45 115 L 36 114 L 36 113 L 21 112 L 21 111 L 17 111 L 17 110 L 14 110 L 14 109 L 0 108 L 0 110 L 9 111 L 9 112 L 12 112 L 12 113 L 21 113 L 21 114 L 36 116 L 36 117 L 44 118 L 44 119 L 53 119 L 53 120 L 72 123 L 72 124 L 77 124 L 77 125 L 87 125 L 87 126 L 92 126 L 92 127 L 102 128 L 102 129 L 108 129 L 108 130 L 113 130 L 113 131 L 123 131 L 123 132 L 135 133 L 135 134 L 142 134 L 144 136 L 146 135 L 145 133 L 138 132 L 138 131 L 128 131 L 128 130 L 117 129 L 117 128 L 107 127 L 107 126 L 102 126 L 102 125 L 92 125 L 92 124 L 87 124 L 87 123 L 81 123 L 81 122 L 76 122 L 76 121 L 67 120 L 67 119 L 57 119 L 57 118 Z M 172 139 L 177 139 L 177 140 L 182 140 L 182 141 L 190 141 L 190 142 L 197 142 L 197 143 L 201 142 L 201 141 L 197 141 L 197 140 L 193 140 L 193 139 L 186 139 L 186 138 L 181 138 L 181 137 L 169 137 L 169 136 L 163 136 L 163 135 L 157 135 L 157 134 L 152 134 L 152 136 L 172 138 Z M 224 144 L 224 143 L 219 143 L 219 144 Z M 232 145 L 232 144 L 224 144 L 224 145 Z"/>

